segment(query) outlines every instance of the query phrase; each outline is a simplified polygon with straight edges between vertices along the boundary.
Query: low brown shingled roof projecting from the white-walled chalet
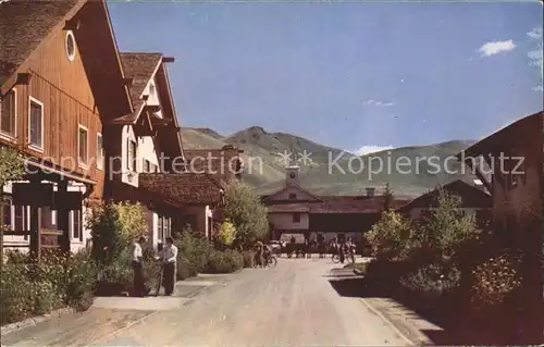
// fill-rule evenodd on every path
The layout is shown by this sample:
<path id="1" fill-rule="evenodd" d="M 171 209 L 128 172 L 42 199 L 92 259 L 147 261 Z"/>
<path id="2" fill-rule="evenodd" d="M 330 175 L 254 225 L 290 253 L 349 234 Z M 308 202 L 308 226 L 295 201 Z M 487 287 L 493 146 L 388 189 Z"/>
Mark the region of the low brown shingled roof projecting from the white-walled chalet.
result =
<path id="1" fill-rule="evenodd" d="M 140 173 L 139 186 L 183 205 L 217 205 L 222 201 L 221 177 L 210 174 Z"/>

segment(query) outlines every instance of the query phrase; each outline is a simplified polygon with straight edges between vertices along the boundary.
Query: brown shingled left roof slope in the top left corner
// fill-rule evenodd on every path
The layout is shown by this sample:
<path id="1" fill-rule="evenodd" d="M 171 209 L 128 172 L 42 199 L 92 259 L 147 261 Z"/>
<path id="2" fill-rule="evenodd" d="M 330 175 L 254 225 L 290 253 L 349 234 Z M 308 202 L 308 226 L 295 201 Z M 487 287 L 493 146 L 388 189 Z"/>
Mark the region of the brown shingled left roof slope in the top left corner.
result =
<path id="1" fill-rule="evenodd" d="M 72 10 L 77 10 L 84 2 L 82 0 L 1 2 L 0 85 L 15 73 Z"/>

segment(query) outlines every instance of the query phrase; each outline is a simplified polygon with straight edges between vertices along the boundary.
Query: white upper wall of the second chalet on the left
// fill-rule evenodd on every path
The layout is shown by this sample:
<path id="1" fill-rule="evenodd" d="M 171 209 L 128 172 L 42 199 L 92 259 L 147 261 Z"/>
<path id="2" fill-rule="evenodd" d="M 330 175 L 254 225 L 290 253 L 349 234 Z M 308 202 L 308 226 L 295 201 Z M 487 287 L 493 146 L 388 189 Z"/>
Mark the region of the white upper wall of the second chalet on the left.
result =
<path id="1" fill-rule="evenodd" d="M 128 140 L 136 141 L 136 171 L 128 170 Z M 144 171 L 144 160 L 149 160 L 154 165 L 159 165 L 159 159 L 154 148 L 153 139 L 150 136 L 140 137 L 136 140 L 133 128 L 129 125 L 123 126 L 122 132 L 122 182 L 132 186 L 138 186 L 138 175 Z M 160 171 L 160 166 L 158 170 Z"/>

